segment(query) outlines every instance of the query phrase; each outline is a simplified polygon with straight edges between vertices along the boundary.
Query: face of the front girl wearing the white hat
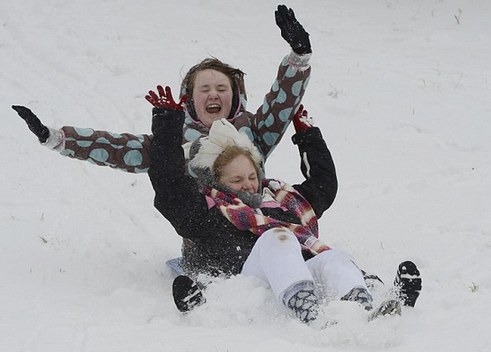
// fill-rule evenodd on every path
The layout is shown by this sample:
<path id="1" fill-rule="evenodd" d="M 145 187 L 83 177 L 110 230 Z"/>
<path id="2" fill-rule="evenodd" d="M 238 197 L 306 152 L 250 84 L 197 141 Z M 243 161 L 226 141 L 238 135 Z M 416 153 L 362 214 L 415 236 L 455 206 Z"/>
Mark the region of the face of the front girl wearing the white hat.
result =
<path id="1" fill-rule="evenodd" d="M 259 189 L 256 168 L 245 155 L 237 155 L 223 166 L 222 176 L 218 181 L 235 192 L 257 193 Z"/>

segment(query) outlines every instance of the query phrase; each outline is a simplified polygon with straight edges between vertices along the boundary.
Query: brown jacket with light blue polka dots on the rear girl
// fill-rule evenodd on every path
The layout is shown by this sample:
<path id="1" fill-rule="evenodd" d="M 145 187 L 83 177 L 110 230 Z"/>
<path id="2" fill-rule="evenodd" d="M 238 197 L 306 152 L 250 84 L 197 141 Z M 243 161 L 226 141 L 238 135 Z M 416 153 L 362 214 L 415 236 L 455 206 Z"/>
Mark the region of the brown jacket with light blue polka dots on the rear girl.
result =
<path id="1" fill-rule="evenodd" d="M 292 53 L 282 60 L 277 77 L 256 113 L 246 111 L 247 97 L 242 88 L 240 108 L 231 122 L 248 135 L 264 159 L 280 142 L 300 105 L 309 79 L 308 58 L 302 62 Z M 244 87 L 243 82 L 239 86 Z M 208 135 L 209 131 L 189 114 L 186 114 L 183 130 L 183 143 L 194 142 Z M 148 171 L 152 135 L 112 133 L 71 126 L 64 126 L 61 131 L 64 147 L 60 153 L 64 156 L 131 173 Z"/>

